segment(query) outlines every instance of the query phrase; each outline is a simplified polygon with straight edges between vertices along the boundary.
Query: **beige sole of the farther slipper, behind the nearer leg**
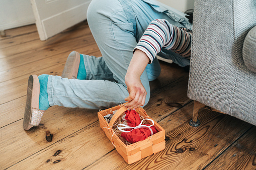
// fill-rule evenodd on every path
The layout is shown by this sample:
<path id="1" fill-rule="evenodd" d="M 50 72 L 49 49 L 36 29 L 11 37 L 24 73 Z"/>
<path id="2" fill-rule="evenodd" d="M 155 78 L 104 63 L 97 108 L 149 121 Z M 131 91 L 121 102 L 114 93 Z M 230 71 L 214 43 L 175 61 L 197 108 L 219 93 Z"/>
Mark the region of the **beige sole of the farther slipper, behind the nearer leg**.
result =
<path id="1" fill-rule="evenodd" d="M 68 57 L 66 64 L 64 66 L 61 77 L 62 78 L 76 78 L 78 73 L 78 68 L 80 64 L 80 54 L 76 51 L 71 52 Z"/>

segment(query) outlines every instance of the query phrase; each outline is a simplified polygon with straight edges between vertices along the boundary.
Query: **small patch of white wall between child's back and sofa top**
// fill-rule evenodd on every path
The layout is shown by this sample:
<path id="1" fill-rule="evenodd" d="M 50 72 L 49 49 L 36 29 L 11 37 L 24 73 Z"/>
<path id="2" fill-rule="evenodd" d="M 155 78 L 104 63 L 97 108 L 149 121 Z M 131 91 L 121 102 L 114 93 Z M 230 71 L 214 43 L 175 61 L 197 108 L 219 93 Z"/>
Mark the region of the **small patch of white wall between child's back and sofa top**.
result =
<path id="1" fill-rule="evenodd" d="M 157 0 L 167 6 L 173 7 L 181 12 L 194 9 L 195 0 Z"/>

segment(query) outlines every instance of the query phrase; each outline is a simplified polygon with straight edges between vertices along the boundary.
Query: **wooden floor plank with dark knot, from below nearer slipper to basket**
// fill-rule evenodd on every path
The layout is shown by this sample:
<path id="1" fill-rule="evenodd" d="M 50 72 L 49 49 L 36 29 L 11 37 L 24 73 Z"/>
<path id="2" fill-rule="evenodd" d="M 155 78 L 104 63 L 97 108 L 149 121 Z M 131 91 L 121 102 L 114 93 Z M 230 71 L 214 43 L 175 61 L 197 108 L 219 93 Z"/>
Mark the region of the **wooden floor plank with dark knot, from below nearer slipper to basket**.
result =
<path id="1" fill-rule="evenodd" d="M 1 168 L 7 168 L 70 134 L 75 135 L 76 131 L 98 121 L 97 111 L 51 107 L 44 113 L 38 127 L 25 131 L 23 119 L 2 127 Z M 46 140 L 47 131 L 53 134 L 51 142 Z"/>

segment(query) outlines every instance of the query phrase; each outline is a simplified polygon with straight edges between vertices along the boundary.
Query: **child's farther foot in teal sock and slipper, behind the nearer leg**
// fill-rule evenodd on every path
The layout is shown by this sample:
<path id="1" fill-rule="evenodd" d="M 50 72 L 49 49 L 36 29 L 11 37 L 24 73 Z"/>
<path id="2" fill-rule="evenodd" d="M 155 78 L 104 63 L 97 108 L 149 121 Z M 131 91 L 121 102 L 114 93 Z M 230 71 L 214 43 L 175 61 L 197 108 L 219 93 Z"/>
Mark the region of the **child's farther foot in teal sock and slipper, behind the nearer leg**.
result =
<path id="1" fill-rule="evenodd" d="M 86 80 L 86 69 L 84 68 L 83 56 L 73 51 L 68 57 L 62 72 L 62 78 Z"/>

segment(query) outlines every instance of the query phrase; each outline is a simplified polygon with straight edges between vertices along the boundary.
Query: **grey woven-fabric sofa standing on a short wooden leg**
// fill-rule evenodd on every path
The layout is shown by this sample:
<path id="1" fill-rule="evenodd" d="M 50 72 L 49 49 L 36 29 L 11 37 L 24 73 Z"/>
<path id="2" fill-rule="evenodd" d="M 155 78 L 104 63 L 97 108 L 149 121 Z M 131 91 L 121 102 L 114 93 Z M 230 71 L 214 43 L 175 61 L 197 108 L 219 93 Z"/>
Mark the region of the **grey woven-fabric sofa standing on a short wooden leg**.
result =
<path id="1" fill-rule="evenodd" d="M 253 125 L 255 26 L 256 0 L 196 0 L 188 87 L 190 99 Z"/>

